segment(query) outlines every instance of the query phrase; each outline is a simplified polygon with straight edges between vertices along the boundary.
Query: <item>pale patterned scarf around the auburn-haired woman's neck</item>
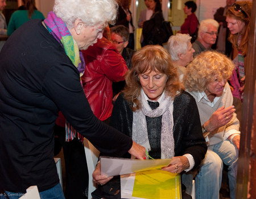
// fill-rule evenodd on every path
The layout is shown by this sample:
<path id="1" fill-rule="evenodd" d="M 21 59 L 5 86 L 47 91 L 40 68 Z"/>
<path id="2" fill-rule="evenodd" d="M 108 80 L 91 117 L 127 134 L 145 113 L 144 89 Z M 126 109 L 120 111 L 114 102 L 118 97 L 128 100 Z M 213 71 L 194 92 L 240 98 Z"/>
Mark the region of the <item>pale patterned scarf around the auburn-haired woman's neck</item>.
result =
<path id="1" fill-rule="evenodd" d="M 142 109 L 133 112 L 133 141 L 150 151 L 150 143 L 147 134 L 146 116 L 150 118 L 157 118 L 162 116 L 162 131 L 161 131 L 161 159 L 174 157 L 174 101 L 171 97 L 165 96 L 162 93 L 162 101 L 159 102 L 159 107 L 152 110 L 148 105 L 147 99 L 141 90 L 139 100 L 142 103 Z"/>

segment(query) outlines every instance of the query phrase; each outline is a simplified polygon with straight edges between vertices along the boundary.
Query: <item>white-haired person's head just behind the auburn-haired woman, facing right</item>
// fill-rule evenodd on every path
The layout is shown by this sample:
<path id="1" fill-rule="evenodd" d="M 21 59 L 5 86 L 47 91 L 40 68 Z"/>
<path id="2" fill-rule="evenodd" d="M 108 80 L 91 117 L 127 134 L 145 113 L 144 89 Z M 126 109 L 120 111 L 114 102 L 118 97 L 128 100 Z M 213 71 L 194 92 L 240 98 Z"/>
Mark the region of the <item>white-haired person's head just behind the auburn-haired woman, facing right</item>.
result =
<path id="1" fill-rule="evenodd" d="M 177 68 L 177 73 L 182 80 L 184 73 L 186 72 L 186 66 L 193 60 L 191 36 L 188 34 L 177 33 L 169 38 L 167 43 L 167 49 L 172 57 L 172 64 Z"/>

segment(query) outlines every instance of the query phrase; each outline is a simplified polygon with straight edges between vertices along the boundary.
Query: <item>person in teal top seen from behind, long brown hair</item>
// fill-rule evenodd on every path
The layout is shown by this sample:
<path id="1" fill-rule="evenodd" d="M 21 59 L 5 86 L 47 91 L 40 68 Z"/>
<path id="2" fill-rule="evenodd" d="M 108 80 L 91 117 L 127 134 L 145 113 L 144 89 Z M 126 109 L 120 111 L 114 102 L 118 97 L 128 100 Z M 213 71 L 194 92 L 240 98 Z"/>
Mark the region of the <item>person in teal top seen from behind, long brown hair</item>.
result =
<path id="1" fill-rule="evenodd" d="M 23 23 L 31 19 L 44 19 L 44 15 L 36 10 L 35 0 L 22 0 L 24 10 L 17 10 L 11 15 L 7 35 L 13 34 Z"/>

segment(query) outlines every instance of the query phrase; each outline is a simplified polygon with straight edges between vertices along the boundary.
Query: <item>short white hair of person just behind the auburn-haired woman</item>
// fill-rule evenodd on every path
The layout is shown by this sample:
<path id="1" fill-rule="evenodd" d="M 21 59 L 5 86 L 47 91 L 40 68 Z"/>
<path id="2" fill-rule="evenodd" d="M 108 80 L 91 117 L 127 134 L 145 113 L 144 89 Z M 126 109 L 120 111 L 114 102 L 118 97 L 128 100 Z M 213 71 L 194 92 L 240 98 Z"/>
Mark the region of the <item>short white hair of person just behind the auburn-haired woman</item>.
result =
<path id="1" fill-rule="evenodd" d="M 179 60 L 179 53 L 185 55 L 188 45 L 190 43 L 191 36 L 188 34 L 177 33 L 175 36 L 172 35 L 168 39 L 167 49 L 172 57 L 172 61 Z"/>

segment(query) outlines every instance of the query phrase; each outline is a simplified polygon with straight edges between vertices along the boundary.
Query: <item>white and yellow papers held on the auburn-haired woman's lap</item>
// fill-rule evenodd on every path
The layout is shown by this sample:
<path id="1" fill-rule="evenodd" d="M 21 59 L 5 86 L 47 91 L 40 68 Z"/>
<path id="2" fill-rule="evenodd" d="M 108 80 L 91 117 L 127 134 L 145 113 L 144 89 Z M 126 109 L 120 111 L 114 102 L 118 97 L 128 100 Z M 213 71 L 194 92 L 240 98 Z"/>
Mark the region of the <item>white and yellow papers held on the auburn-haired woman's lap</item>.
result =
<path id="1" fill-rule="evenodd" d="M 101 175 L 121 175 L 121 198 L 179 199 L 180 175 L 162 171 L 171 159 L 137 160 L 100 157 Z"/>

